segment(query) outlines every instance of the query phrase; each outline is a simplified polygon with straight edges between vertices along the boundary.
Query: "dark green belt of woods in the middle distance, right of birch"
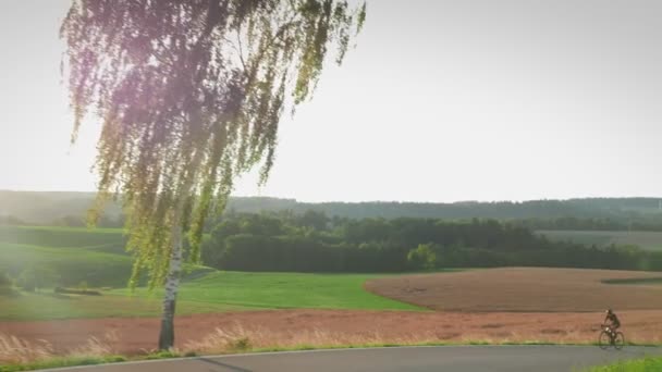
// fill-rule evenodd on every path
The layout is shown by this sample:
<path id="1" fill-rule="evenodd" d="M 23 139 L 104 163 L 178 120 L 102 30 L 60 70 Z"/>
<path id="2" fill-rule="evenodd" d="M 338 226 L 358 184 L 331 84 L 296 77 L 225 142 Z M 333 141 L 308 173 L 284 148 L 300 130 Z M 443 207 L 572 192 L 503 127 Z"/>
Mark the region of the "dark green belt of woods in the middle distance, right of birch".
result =
<path id="1" fill-rule="evenodd" d="M 635 247 L 550 241 L 495 220 L 329 218 L 229 213 L 203 249 L 221 270 L 404 272 L 436 268 L 564 266 L 662 270 L 662 255 Z"/>

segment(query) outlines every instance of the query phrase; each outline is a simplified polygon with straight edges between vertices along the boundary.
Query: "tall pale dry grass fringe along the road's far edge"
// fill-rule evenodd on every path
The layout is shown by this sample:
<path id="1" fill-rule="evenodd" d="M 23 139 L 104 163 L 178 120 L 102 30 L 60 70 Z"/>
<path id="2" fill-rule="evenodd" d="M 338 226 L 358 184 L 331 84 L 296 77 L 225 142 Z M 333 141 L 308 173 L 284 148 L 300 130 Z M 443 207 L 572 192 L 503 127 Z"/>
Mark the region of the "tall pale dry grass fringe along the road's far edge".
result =
<path id="1" fill-rule="evenodd" d="M 491 324 L 489 332 L 474 330 L 454 332 L 456 330 L 429 331 L 424 333 L 383 334 L 379 330 L 358 332 L 335 332 L 328 328 L 314 327 L 307 330 L 275 331 L 263 327 L 244 326 L 234 323 L 225 328 L 216 328 L 199 340 L 185 343 L 172 355 L 222 355 L 259 349 L 297 349 L 297 348 L 332 348 L 346 346 L 381 346 L 381 345 L 425 345 L 425 344 L 507 344 L 507 343 L 557 343 L 587 344 L 597 339 L 592 330 L 576 331 L 567 328 L 544 328 L 542 332 L 517 332 L 507 330 L 502 324 Z M 627 337 L 627 333 L 626 333 Z M 662 338 L 643 337 L 633 333 L 628 342 L 662 343 Z M 107 333 L 103 337 L 90 337 L 85 344 L 61 351 L 46 340 L 28 342 L 0 333 L 0 364 L 17 364 L 38 362 L 52 358 L 103 358 L 115 356 L 122 340 L 115 333 Z M 149 355 L 157 350 L 142 350 Z"/>

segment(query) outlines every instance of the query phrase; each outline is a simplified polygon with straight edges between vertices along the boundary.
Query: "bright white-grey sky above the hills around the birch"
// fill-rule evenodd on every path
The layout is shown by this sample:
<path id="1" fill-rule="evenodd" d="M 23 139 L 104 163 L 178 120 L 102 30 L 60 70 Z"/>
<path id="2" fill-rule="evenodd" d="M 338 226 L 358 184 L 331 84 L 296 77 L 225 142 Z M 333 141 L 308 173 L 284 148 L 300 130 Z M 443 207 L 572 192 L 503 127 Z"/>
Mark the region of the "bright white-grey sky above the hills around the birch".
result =
<path id="1" fill-rule="evenodd" d="M 93 190 L 69 146 L 66 0 L 0 1 L 0 189 Z M 266 187 L 322 200 L 662 195 L 662 2 L 368 2 L 345 64 L 286 119 Z"/>

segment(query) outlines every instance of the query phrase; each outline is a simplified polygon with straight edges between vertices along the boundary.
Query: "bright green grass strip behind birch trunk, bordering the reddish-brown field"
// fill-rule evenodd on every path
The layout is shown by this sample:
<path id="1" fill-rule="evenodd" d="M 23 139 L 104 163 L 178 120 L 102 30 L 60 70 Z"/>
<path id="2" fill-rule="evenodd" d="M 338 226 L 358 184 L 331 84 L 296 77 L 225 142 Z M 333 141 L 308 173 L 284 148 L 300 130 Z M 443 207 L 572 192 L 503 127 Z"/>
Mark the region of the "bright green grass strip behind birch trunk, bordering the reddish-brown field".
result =
<path id="1" fill-rule="evenodd" d="M 212 272 L 185 282 L 179 314 L 268 309 L 420 310 L 363 289 L 375 275 Z M 0 297 L 0 321 L 157 317 L 160 293 L 115 289 L 103 296 L 61 296 L 52 293 Z"/>

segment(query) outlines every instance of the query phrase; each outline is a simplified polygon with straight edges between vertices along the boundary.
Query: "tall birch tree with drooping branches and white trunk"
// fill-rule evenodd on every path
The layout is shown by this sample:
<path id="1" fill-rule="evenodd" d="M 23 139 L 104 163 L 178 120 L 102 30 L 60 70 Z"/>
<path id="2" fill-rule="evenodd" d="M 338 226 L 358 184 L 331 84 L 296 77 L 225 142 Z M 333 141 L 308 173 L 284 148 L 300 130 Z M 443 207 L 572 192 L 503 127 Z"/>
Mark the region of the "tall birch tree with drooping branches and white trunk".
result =
<path id="1" fill-rule="evenodd" d="M 339 0 L 74 0 L 61 26 L 74 114 L 101 125 L 98 197 L 128 214 L 130 285 L 164 286 L 159 348 L 174 345 L 183 263 L 233 181 L 274 161 L 278 125 L 341 63 L 366 4 Z M 187 240 L 187 241 L 186 241 Z"/>

